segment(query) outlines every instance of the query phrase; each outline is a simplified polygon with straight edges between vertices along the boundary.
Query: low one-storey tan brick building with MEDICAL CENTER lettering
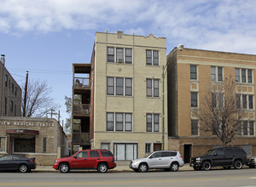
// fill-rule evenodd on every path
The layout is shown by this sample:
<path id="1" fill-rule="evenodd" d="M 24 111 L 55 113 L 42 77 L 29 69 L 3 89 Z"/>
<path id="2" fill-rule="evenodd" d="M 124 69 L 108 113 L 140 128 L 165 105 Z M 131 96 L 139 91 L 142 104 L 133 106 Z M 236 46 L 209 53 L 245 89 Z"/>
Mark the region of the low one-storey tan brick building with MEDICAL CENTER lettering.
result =
<path id="1" fill-rule="evenodd" d="M 0 156 L 35 157 L 38 165 L 52 165 L 67 156 L 67 136 L 55 119 L 0 117 Z"/>

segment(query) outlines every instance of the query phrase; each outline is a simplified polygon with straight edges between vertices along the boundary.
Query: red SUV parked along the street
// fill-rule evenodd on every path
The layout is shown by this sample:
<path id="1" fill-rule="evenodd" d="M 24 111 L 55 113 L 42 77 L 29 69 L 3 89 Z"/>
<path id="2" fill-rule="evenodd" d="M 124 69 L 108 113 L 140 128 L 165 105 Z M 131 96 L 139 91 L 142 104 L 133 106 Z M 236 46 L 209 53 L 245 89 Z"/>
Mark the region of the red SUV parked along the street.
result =
<path id="1" fill-rule="evenodd" d="M 73 156 L 55 159 L 53 168 L 61 173 L 72 169 L 96 169 L 98 173 L 107 173 L 116 167 L 110 150 L 80 150 Z"/>

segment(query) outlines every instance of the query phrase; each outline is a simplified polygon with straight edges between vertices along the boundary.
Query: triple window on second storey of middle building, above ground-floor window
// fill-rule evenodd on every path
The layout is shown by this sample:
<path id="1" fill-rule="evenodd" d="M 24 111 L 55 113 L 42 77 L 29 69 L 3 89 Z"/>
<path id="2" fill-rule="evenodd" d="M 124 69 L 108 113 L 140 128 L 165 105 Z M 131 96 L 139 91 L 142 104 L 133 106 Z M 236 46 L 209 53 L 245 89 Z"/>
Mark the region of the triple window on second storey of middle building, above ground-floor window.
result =
<path id="1" fill-rule="evenodd" d="M 108 112 L 107 131 L 132 131 L 132 114 Z"/>

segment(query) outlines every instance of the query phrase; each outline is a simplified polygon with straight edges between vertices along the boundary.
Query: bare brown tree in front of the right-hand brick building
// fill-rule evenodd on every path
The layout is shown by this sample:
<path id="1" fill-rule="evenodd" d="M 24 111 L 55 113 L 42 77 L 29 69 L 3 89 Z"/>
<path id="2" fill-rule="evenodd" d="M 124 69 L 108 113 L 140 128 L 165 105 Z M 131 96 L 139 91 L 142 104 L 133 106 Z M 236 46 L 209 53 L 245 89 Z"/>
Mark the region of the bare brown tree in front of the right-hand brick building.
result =
<path id="1" fill-rule="evenodd" d="M 236 93 L 234 78 L 224 82 L 212 83 L 202 96 L 200 110 L 197 111 L 201 130 L 217 135 L 227 146 L 241 129 L 244 110 L 241 108 L 240 95 Z"/>

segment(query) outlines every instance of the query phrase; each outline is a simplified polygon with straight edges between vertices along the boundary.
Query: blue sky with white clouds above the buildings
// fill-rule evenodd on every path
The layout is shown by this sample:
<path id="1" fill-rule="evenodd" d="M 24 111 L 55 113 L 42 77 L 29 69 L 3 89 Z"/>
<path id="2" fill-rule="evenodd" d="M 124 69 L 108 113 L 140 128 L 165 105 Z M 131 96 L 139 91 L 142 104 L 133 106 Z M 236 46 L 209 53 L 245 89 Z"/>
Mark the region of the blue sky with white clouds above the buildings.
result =
<path id="1" fill-rule="evenodd" d="M 89 63 L 96 31 L 166 37 L 185 48 L 256 54 L 254 0 L 0 0 L 0 54 L 20 84 L 47 81 L 67 117 L 72 64 Z"/>

